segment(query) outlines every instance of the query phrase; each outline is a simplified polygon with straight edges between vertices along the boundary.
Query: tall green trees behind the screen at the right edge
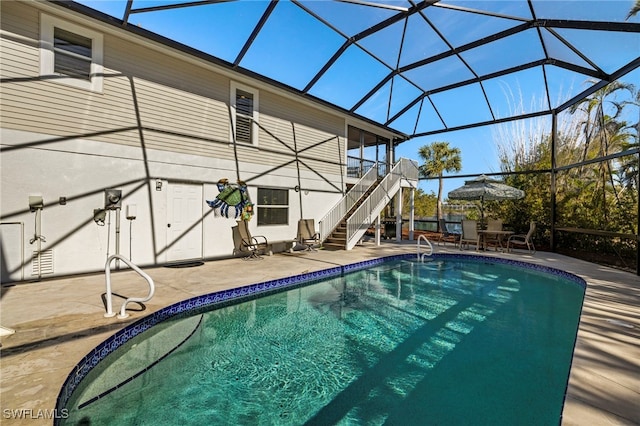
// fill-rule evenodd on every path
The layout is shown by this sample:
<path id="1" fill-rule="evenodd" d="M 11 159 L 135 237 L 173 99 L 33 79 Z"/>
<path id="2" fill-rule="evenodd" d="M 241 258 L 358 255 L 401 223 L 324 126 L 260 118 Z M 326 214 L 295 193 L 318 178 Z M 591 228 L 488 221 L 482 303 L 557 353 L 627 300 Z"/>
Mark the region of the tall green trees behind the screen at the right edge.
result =
<path id="1" fill-rule="evenodd" d="M 623 117 L 629 116 L 624 113 L 627 108 L 638 108 L 639 104 L 640 94 L 633 85 L 614 82 L 562 116 L 555 141 L 556 164 L 563 166 L 555 175 L 556 227 L 637 234 L 639 125 L 629 124 Z M 487 203 L 486 210 L 502 217 L 516 231 L 526 229 L 529 220 L 535 220 L 541 230 L 538 238 L 548 242 L 552 211 L 551 133 L 531 132 L 535 136 L 529 138 L 526 134 L 513 131 L 498 141 L 501 169 L 510 173 L 505 183 L 524 190 L 525 198 Z M 612 158 L 627 151 L 629 155 Z M 586 241 L 579 235 L 563 238 L 574 238 L 569 243 L 576 246 L 584 246 Z M 629 240 L 609 240 L 607 249 L 618 254 L 633 249 Z M 605 249 L 602 241 L 583 248 L 594 252 Z"/>

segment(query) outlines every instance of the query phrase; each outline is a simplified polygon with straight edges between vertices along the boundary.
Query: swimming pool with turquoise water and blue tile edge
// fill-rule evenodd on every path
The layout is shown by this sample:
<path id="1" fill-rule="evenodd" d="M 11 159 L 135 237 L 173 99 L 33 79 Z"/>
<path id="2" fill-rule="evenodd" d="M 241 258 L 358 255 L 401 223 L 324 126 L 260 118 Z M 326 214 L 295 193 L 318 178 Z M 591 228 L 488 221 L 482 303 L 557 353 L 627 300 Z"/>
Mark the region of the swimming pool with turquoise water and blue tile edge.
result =
<path id="1" fill-rule="evenodd" d="M 557 424 L 584 281 L 502 259 L 414 259 L 167 307 L 76 366 L 59 423 Z"/>

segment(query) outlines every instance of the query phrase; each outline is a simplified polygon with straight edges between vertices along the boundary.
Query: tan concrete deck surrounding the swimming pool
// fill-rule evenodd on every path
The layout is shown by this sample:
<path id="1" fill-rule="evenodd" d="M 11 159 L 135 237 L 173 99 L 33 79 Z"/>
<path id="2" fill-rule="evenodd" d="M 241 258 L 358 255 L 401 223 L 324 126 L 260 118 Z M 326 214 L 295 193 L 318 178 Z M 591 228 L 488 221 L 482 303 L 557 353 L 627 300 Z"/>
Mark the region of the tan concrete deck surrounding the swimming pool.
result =
<path id="1" fill-rule="evenodd" d="M 227 288 L 414 253 L 414 244 L 365 243 L 351 251 L 282 253 L 261 261 L 227 259 L 193 268 L 147 269 L 156 283 L 156 295 L 145 303 L 146 310 L 131 311 L 125 320 L 102 315 L 104 274 L 3 286 L 0 325 L 15 333 L 0 338 L 0 423 L 51 424 L 47 410 L 55 407 L 60 388 L 78 361 L 115 331 L 164 306 Z M 436 249 L 460 253 L 451 245 Z M 562 424 L 640 425 L 640 277 L 545 252 L 484 255 L 563 269 L 587 281 Z M 146 283 L 128 270 L 114 273 L 112 282 L 115 293 L 139 296 L 147 291 Z"/>

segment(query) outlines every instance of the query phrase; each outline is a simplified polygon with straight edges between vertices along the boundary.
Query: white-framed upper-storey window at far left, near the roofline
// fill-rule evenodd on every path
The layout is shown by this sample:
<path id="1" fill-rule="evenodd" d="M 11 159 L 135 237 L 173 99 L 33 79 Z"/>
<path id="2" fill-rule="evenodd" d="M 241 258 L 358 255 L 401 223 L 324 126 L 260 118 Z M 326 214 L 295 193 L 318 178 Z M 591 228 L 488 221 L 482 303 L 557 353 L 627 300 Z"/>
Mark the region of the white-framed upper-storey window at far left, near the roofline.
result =
<path id="1" fill-rule="evenodd" d="M 42 15 L 40 75 L 48 81 L 102 91 L 102 34 Z"/>

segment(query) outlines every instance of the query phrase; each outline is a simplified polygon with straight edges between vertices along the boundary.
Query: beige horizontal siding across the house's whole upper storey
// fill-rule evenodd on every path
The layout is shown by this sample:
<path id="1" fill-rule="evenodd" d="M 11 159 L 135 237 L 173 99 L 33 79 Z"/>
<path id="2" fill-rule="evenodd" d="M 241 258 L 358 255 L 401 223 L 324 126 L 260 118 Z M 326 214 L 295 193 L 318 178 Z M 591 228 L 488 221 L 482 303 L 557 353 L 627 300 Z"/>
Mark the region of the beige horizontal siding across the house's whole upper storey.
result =
<path id="1" fill-rule="evenodd" d="M 2 49 L 11 52 L 3 54 L 0 65 L 3 127 L 233 158 L 227 77 L 106 33 L 102 93 L 42 80 L 38 10 L 19 2 L 5 2 L 2 9 Z M 274 170 L 295 168 L 295 145 L 303 168 L 339 176 L 344 118 L 259 86 L 256 90 L 259 147 L 238 146 L 240 161 Z"/>

